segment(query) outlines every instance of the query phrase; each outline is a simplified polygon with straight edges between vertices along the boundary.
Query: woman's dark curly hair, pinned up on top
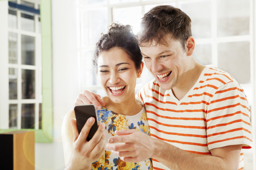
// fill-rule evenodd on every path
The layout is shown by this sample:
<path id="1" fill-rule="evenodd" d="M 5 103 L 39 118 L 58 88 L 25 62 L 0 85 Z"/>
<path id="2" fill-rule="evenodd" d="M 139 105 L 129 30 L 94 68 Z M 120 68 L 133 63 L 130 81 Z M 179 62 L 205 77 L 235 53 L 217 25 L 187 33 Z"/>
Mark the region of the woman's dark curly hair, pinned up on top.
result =
<path id="1" fill-rule="evenodd" d="M 139 42 L 132 32 L 132 26 L 111 23 L 108 26 L 108 32 L 106 34 L 101 33 L 101 37 L 96 43 L 96 49 L 93 53 L 92 60 L 96 72 L 98 72 L 98 57 L 100 53 L 102 51 L 109 51 L 114 47 L 123 49 L 134 62 L 136 69 L 140 69 L 142 55 Z"/>

